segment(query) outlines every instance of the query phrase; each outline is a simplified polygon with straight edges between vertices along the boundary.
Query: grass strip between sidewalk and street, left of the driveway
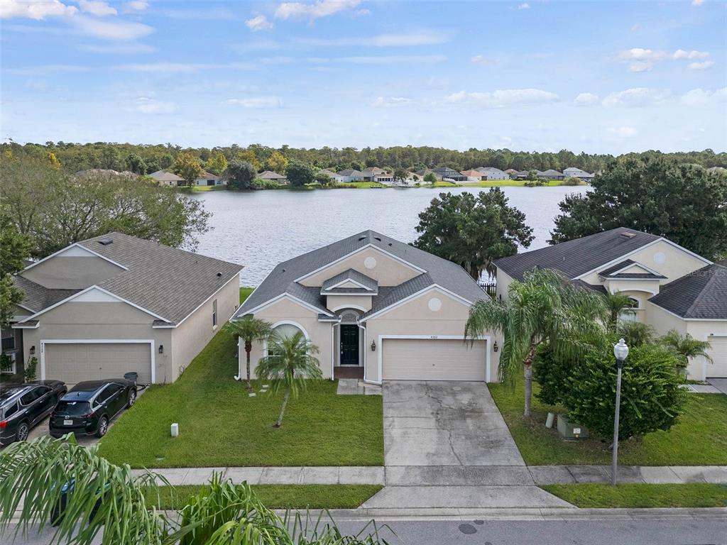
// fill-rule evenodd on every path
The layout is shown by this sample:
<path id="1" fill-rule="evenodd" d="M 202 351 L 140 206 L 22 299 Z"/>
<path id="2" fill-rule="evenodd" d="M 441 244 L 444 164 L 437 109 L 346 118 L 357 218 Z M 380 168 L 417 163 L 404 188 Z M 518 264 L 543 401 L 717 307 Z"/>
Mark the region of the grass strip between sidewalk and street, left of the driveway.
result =
<path id="1" fill-rule="evenodd" d="M 158 509 L 181 509 L 206 486 L 161 486 L 160 494 L 147 494 Z M 382 489 L 379 485 L 252 485 L 270 509 L 356 509 Z"/>

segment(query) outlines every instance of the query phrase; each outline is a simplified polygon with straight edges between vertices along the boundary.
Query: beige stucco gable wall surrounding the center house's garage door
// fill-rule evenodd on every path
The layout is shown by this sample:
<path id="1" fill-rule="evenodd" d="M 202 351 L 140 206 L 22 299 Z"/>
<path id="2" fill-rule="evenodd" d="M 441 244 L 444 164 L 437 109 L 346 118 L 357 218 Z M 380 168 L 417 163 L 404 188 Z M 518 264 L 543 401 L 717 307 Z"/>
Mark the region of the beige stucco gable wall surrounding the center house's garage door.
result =
<path id="1" fill-rule="evenodd" d="M 430 308 L 432 299 L 438 299 L 438 310 Z M 433 304 L 433 308 L 437 308 L 438 304 Z M 464 335 L 465 323 L 469 316 L 469 305 L 463 304 L 451 296 L 441 291 L 432 289 L 424 294 L 411 299 L 409 302 L 402 304 L 390 312 L 381 315 L 378 318 L 366 320 L 366 380 L 371 382 L 379 382 L 379 335 Z M 491 340 L 497 340 L 502 346 L 499 336 L 490 332 Z M 377 351 L 371 352 L 371 342 L 377 342 Z M 497 363 L 499 362 L 499 352 L 490 350 L 490 376 L 491 381 L 497 379 Z"/>

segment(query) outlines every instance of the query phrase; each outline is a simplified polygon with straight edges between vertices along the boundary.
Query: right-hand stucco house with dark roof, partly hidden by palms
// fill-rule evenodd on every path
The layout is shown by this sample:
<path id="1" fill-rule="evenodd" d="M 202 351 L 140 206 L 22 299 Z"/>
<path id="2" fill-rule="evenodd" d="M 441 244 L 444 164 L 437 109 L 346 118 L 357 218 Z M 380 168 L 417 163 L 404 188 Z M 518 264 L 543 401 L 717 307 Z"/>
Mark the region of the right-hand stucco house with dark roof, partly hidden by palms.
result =
<path id="1" fill-rule="evenodd" d="M 619 227 L 573 241 L 499 259 L 497 296 L 534 267 L 606 293 L 630 296 L 635 312 L 658 334 L 676 329 L 712 344 L 714 363 L 695 358 L 688 376 L 727 377 L 727 266 L 712 263 L 667 238 Z"/>

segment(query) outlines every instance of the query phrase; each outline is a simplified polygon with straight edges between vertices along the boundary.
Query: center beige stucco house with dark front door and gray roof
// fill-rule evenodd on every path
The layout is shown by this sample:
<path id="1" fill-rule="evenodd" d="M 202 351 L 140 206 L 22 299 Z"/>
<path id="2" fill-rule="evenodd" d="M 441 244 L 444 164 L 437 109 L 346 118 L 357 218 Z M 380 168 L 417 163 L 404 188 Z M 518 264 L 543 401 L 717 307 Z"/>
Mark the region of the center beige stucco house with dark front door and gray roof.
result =
<path id="1" fill-rule="evenodd" d="M 330 379 L 490 381 L 497 339 L 462 336 L 485 296 L 459 265 L 367 230 L 275 267 L 233 320 L 254 315 L 282 335 L 301 331 Z M 252 361 L 266 351 L 255 344 Z"/>

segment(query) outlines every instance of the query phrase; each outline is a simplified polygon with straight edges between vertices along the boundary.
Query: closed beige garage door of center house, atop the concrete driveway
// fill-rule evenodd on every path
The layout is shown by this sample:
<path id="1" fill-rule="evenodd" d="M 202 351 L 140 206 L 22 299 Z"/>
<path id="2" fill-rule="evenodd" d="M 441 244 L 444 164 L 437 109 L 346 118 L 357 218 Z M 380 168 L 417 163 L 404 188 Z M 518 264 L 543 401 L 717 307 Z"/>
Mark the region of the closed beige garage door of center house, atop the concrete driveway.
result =
<path id="1" fill-rule="evenodd" d="M 462 339 L 384 339 L 385 380 L 485 380 L 487 342 Z"/>

